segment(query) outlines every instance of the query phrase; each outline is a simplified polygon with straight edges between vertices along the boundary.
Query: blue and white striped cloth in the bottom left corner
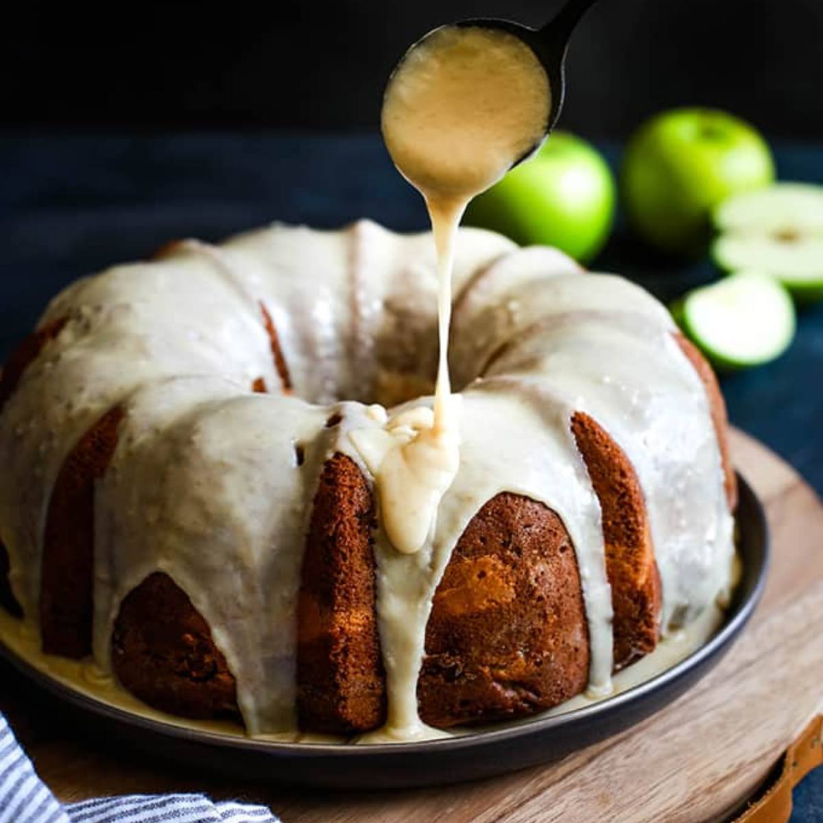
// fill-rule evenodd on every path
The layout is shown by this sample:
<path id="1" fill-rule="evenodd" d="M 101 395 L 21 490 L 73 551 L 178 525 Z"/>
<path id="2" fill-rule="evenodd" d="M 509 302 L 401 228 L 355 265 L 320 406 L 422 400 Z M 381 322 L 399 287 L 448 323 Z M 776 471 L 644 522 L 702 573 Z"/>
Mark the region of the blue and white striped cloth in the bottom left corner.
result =
<path id="1" fill-rule="evenodd" d="M 0 823 L 277 823 L 264 806 L 203 794 L 130 794 L 61 805 L 0 714 Z"/>

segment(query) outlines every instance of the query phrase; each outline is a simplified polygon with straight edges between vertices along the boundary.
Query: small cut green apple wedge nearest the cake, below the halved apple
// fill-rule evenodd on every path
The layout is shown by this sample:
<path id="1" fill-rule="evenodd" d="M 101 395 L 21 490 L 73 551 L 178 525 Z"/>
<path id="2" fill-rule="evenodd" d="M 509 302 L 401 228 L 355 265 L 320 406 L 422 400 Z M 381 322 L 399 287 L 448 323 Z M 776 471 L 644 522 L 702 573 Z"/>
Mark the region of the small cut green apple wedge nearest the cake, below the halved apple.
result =
<path id="1" fill-rule="evenodd" d="M 779 281 L 762 272 L 738 272 L 690 291 L 672 306 L 672 314 L 720 369 L 768 363 L 794 337 L 792 299 Z"/>

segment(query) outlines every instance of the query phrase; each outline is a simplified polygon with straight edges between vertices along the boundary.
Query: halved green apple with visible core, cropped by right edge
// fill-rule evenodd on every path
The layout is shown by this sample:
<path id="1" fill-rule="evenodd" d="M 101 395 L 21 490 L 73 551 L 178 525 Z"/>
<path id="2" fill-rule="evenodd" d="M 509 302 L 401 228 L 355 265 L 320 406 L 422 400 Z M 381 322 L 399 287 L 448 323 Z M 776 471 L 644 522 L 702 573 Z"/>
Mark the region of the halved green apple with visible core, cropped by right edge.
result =
<path id="1" fill-rule="evenodd" d="M 781 183 L 737 195 L 715 210 L 714 226 L 719 267 L 756 268 L 798 300 L 823 299 L 823 187 Z"/>

